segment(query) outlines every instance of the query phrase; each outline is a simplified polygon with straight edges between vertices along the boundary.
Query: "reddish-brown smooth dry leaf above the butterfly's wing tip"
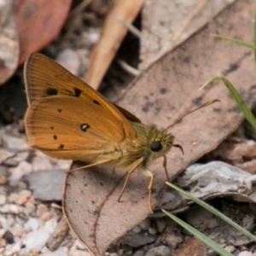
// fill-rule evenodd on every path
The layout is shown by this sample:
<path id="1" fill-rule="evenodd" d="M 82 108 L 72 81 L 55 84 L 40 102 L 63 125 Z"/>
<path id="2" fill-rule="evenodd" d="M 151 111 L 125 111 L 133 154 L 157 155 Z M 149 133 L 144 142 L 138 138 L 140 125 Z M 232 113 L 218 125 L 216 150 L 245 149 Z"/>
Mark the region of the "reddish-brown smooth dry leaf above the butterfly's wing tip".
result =
<path id="1" fill-rule="evenodd" d="M 19 64 L 57 37 L 67 18 L 71 0 L 18 0 L 15 22 L 20 40 Z"/>

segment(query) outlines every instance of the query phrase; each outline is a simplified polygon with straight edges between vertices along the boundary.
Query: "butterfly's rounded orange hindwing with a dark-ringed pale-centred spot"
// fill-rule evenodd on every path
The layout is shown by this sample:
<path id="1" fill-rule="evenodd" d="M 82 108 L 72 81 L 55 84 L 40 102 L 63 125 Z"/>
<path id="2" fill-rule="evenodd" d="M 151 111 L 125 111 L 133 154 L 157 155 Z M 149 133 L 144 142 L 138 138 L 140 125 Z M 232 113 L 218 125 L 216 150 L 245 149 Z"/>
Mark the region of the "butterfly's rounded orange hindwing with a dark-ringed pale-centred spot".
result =
<path id="1" fill-rule="evenodd" d="M 125 139 L 119 119 L 77 97 L 35 100 L 25 122 L 30 145 L 61 159 L 91 162 L 100 154 L 112 154 Z"/>

